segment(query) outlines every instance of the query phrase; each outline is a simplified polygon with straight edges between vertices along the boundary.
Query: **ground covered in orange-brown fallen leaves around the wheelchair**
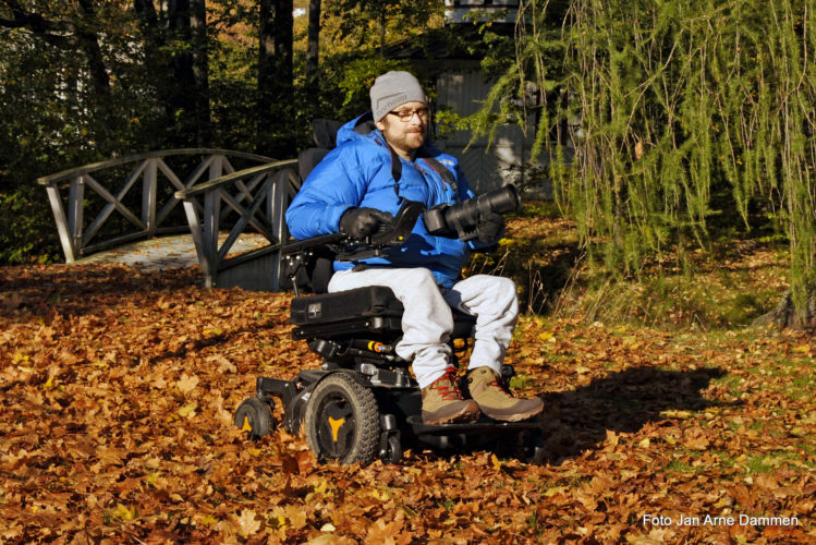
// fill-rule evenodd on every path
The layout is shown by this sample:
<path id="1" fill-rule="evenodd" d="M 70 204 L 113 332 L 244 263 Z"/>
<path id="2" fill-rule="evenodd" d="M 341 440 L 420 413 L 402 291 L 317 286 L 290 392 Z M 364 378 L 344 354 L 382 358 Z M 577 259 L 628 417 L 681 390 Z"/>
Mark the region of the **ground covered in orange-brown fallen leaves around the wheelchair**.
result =
<path id="1" fill-rule="evenodd" d="M 0 543 L 816 542 L 805 334 L 524 317 L 508 359 L 546 400 L 544 464 L 319 465 L 232 424 L 257 375 L 319 365 L 291 295 L 198 278 L 0 268 Z"/>

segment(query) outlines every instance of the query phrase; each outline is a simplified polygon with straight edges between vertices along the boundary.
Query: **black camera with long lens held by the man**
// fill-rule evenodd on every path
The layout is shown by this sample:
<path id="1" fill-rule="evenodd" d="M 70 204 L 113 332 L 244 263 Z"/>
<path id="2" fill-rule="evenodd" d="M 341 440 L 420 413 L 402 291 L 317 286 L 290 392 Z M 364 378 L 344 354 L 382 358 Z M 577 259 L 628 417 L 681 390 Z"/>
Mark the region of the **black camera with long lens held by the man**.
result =
<path id="1" fill-rule="evenodd" d="M 476 237 L 476 226 L 490 213 L 507 214 L 519 208 L 521 198 L 514 185 L 484 193 L 455 205 L 438 205 L 425 210 L 423 222 L 436 237 L 458 237 L 466 241 Z"/>

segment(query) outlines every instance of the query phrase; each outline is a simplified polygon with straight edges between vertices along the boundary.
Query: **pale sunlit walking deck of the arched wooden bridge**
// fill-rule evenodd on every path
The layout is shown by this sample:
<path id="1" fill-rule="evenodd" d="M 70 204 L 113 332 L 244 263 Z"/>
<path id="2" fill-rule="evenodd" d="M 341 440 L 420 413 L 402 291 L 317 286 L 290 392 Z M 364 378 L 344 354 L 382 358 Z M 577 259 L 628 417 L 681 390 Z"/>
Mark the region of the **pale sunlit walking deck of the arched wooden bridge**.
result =
<path id="1" fill-rule="evenodd" d="M 228 233 L 220 233 L 219 244 Z M 232 246 L 230 256 L 249 252 L 269 244 L 265 237 L 244 232 Z M 192 267 L 198 265 L 193 237 L 190 233 L 172 237 L 160 237 L 141 242 L 125 244 L 113 250 L 99 252 L 74 262 L 76 264 L 105 263 L 122 264 L 144 270 Z"/>

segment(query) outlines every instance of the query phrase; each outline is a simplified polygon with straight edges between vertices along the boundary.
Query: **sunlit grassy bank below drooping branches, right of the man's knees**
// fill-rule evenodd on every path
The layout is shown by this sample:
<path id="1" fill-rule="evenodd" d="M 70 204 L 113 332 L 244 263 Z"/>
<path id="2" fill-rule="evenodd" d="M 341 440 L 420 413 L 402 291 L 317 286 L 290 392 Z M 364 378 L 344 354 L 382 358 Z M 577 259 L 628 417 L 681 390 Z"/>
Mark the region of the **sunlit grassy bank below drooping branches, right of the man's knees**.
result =
<path id="1" fill-rule="evenodd" d="M 774 308 L 788 289 L 788 247 L 726 240 L 708 252 L 667 253 L 634 278 L 590 279 L 577 233 L 551 203 L 526 203 L 508 219 L 508 237 L 476 254 L 465 274 L 495 274 L 519 287 L 523 312 L 581 314 L 589 323 L 735 329 Z M 597 271 L 596 271 L 597 272 Z"/>

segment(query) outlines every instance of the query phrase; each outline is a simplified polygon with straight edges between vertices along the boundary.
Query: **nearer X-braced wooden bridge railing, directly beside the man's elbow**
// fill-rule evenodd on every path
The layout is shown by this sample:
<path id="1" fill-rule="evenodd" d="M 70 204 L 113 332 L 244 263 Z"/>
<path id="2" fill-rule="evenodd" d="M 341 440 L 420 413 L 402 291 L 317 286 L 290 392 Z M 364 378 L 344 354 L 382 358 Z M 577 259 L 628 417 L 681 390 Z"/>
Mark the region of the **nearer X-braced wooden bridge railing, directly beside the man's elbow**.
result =
<path id="1" fill-rule="evenodd" d="M 184 203 L 207 287 L 280 291 L 280 252 L 289 237 L 284 214 L 301 185 L 296 165 L 297 159 L 270 162 L 175 192 Z M 223 220 L 233 211 L 238 220 L 219 245 Z M 234 242 L 249 229 L 269 244 L 228 258 Z"/>

